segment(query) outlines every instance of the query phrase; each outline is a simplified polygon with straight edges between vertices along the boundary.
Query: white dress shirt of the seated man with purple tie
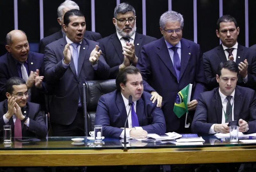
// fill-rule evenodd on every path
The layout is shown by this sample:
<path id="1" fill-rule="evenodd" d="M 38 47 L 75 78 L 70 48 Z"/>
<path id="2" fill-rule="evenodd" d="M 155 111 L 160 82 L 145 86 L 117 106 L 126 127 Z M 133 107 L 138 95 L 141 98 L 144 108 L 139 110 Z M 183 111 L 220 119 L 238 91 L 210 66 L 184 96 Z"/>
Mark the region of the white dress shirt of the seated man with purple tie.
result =
<path id="1" fill-rule="evenodd" d="M 124 100 L 124 106 L 125 106 L 125 109 L 126 109 L 126 114 L 128 115 L 128 112 L 130 110 L 130 106 L 129 106 L 129 100 L 127 98 L 124 97 L 124 95 L 121 93 L 122 97 L 123 97 L 123 100 Z M 134 105 L 134 111 L 136 112 L 136 104 L 137 104 L 137 101 L 134 101 L 133 102 Z M 128 128 L 132 128 L 132 110 L 130 111 L 130 115 L 128 116 Z M 134 127 L 135 129 L 142 129 L 142 127 Z M 130 137 L 130 129 L 126 129 L 126 138 L 129 138 Z M 122 131 L 121 135 L 120 135 L 121 138 L 124 138 L 124 130 Z"/>

